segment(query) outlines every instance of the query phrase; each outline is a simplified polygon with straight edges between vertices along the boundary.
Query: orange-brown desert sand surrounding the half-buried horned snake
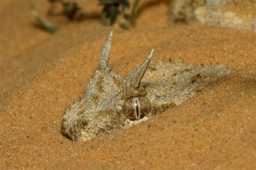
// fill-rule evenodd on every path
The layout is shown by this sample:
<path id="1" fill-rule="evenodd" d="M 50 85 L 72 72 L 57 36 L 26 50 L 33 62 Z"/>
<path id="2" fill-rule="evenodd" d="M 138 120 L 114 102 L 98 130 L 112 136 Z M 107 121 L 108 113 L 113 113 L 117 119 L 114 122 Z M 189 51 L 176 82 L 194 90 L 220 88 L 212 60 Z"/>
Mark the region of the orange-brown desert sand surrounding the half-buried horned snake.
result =
<path id="1" fill-rule="evenodd" d="M 48 3 L 35 1 L 46 13 Z M 28 1 L 0 2 L 0 168 L 255 169 L 256 34 L 200 25 L 167 27 L 167 5 L 143 1 L 131 31 L 61 15 L 55 35 L 35 26 Z M 95 19 L 96 18 L 96 19 Z M 113 30 L 110 65 L 122 76 L 153 60 L 225 64 L 233 73 L 184 104 L 86 142 L 60 134 L 65 106 L 81 95 Z"/>

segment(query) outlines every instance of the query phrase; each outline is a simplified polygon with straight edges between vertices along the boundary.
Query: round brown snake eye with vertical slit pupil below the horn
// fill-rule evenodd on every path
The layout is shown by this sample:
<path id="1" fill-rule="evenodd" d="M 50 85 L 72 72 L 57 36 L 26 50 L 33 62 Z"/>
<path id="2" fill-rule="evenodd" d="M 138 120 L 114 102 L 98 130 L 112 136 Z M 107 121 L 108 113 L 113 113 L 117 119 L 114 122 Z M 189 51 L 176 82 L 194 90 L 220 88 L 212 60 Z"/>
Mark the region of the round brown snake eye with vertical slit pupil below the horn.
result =
<path id="1" fill-rule="evenodd" d="M 130 120 L 142 119 L 151 110 L 150 100 L 146 97 L 132 97 L 125 101 L 122 111 Z"/>

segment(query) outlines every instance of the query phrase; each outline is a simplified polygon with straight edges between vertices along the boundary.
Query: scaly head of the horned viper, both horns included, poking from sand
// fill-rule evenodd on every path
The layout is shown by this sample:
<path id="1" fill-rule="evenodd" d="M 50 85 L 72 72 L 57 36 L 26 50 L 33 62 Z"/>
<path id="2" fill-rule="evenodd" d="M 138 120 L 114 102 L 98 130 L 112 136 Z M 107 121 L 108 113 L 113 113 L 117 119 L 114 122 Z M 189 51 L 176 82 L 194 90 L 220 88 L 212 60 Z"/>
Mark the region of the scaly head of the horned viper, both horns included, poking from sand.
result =
<path id="1" fill-rule="evenodd" d="M 185 65 L 171 60 L 150 63 L 152 50 L 131 76 L 123 78 L 108 66 L 111 39 L 112 32 L 86 92 L 65 108 L 62 133 L 73 141 L 100 137 L 151 118 L 230 73 L 224 65 Z"/>

